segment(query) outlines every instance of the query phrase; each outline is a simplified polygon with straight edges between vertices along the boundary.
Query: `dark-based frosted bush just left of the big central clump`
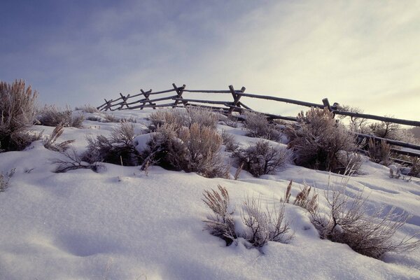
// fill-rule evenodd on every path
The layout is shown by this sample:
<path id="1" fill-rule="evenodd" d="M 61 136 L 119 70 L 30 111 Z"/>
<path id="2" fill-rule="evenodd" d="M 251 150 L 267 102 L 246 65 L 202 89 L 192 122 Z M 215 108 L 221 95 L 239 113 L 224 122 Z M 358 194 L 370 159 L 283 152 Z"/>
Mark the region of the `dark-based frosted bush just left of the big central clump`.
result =
<path id="1" fill-rule="evenodd" d="M 111 137 L 98 135 L 95 138 L 87 137 L 87 150 L 82 158 L 85 162 L 109 162 L 120 165 L 135 166 L 142 162 L 141 155 L 133 144 L 134 125 L 120 123 L 111 132 Z"/>

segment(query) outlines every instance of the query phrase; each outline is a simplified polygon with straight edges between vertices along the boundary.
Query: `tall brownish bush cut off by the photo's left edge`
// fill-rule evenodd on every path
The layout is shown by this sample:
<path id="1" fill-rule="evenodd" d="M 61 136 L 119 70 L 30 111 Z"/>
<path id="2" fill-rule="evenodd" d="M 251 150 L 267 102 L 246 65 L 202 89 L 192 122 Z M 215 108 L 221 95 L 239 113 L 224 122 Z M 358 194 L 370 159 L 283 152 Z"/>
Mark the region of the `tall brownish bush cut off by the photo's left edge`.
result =
<path id="1" fill-rule="evenodd" d="M 28 130 L 34 123 L 37 96 L 24 80 L 0 82 L 0 144 L 4 151 L 20 151 L 34 141 Z"/>

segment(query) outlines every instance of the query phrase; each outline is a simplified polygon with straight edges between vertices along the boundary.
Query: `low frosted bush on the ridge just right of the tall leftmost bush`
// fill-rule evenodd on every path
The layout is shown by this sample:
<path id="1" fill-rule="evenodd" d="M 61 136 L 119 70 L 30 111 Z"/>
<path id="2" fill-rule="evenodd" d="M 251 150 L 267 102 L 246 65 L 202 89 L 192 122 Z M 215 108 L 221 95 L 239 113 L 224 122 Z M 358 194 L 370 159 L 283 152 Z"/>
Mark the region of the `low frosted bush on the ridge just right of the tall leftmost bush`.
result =
<path id="1" fill-rule="evenodd" d="M 49 127 L 56 127 L 59 124 L 64 127 L 83 127 L 85 117 L 81 114 L 78 116 L 72 116 L 72 114 L 73 111 L 69 106 L 66 106 L 65 109 L 59 109 L 56 106 L 44 106 L 39 112 L 38 122 Z"/>

